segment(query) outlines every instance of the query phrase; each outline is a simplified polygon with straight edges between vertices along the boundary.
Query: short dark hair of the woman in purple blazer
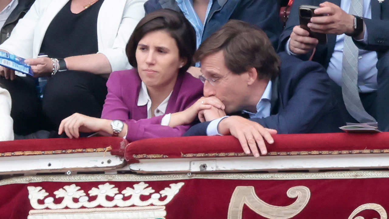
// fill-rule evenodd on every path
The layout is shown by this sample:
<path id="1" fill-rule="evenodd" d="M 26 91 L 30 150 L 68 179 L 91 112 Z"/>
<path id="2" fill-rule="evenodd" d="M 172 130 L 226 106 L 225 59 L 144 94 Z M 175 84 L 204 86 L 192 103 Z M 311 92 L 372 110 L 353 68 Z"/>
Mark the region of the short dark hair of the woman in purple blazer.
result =
<path id="1" fill-rule="evenodd" d="M 186 58 L 186 64 L 179 72 L 184 73 L 192 65 L 193 54 L 196 51 L 196 32 L 189 21 L 180 12 L 170 9 L 159 9 L 142 18 L 135 27 L 126 46 L 128 62 L 136 68 L 135 51 L 138 42 L 149 32 L 165 30 L 175 39 L 180 58 Z"/>

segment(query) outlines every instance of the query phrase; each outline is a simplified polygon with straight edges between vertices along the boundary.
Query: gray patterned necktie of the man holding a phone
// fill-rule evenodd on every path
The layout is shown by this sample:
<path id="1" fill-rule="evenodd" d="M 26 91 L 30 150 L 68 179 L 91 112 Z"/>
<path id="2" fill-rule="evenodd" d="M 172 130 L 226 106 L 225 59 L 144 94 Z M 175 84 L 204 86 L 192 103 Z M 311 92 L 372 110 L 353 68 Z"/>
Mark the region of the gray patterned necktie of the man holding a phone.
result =
<path id="1" fill-rule="evenodd" d="M 363 16 L 363 0 L 351 0 L 349 14 Z M 359 50 L 352 37 L 345 35 L 342 60 L 342 94 L 344 104 L 350 115 L 360 123 L 377 122 L 363 108 L 358 90 Z"/>

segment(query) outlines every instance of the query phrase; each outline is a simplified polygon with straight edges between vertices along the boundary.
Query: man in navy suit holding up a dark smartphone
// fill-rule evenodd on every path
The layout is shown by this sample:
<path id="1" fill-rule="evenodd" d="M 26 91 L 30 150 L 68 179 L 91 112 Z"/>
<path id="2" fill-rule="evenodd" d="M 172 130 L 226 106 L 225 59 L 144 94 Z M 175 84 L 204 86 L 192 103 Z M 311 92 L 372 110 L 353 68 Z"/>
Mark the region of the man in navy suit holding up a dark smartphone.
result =
<path id="1" fill-rule="evenodd" d="M 352 1 L 354 0 L 295 0 L 280 36 L 278 51 L 286 51 L 302 60 L 308 60 L 314 53 L 312 60 L 321 63 L 330 78 L 338 84 L 332 89 L 344 107 L 340 89 L 343 83 L 342 53 L 345 35 L 351 36 L 359 49 L 359 97 L 367 113 L 377 120 L 378 128 L 389 131 L 389 63 L 384 62 L 389 59 L 389 1 L 363 0 L 359 6 L 363 9 L 360 17 L 350 12 Z M 327 34 L 326 44 L 318 44 L 317 39 L 309 37 L 308 31 L 299 26 L 300 5 L 320 7 L 314 11 L 319 16 L 312 18 L 308 27 L 313 32 Z M 344 116 L 346 122 L 357 122 L 347 111 Z"/>

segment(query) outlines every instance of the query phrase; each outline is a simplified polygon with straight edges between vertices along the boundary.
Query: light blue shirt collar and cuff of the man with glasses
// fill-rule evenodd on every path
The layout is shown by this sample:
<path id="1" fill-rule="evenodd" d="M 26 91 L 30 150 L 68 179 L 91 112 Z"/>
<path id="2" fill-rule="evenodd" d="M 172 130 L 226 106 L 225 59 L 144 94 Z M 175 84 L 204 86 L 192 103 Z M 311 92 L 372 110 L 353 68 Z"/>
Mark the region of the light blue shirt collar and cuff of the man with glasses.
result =
<path id="1" fill-rule="evenodd" d="M 248 113 L 250 118 L 265 118 L 270 116 L 270 109 L 272 107 L 272 104 L 270 103 L 270 100 L 272 99 L 272 81 L 269 81 L 265 91 L 263 92 L 261 99 L 259 99 L 257 103 L 257 112 L 252 113 L 246 110 L 243 110 L 242 113 Z M 214 135 L 221 135 L 217 131 L 217 126 L 219 125 L 219 122 L 228 116 L 224 116 L 215 120 L 212 120 L 207 126 L 207 135 L 208 136 L 214 136 Z"/>

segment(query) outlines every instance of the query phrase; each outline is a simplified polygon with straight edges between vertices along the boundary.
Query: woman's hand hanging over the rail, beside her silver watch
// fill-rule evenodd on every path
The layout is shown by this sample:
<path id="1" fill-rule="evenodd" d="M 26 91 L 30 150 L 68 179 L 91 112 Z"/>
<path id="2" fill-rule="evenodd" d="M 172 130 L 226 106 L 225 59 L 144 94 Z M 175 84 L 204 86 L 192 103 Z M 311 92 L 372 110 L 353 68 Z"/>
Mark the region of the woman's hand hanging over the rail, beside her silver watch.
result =
<path id="1" fill-rule="evenodd" d="M 61 121 L 58 134 L 65 131 L 69 138 L 79 138 L 79 132 L 105 131 L 107 127 L 110 127 L 110 120 L 74 113 Z"/>

